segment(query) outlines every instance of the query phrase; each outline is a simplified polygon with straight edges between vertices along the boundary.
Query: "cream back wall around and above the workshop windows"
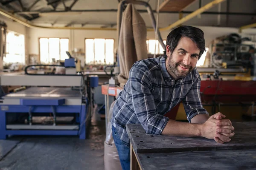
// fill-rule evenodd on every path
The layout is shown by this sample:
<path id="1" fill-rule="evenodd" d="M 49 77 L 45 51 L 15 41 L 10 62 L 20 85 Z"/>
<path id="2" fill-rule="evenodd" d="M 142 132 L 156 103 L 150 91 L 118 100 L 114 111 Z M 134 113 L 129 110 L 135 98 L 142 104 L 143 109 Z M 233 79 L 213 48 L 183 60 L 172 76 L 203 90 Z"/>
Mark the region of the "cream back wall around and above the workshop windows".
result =
<path id="1" fill-rule="evenodd" d="M 204 31 L 206 46 L 216 37 L 231 33 L 239 33 L 238 28 L 228 27 L 210 27 L 198 26 Z M 39 54 L 39 38 L 41 37 L 59 37 L 70 39 L 70 50 L 74 48 L 84 51 L 85 38 L 113 38 L 116 41 L 116 31 L 101 31 L 101 30 L 63 30 L 63 29 L 44 29 L 44 28 L 28 28 L 29 29 L 29 54 Z M 166 40 L 170 31 L 161 31 L 163 40 Z M 256 34 L 256 29 L 243 30 L 242 36 Z M 148 39 L 154 39 L 154 31 L 147 33 Z"/>

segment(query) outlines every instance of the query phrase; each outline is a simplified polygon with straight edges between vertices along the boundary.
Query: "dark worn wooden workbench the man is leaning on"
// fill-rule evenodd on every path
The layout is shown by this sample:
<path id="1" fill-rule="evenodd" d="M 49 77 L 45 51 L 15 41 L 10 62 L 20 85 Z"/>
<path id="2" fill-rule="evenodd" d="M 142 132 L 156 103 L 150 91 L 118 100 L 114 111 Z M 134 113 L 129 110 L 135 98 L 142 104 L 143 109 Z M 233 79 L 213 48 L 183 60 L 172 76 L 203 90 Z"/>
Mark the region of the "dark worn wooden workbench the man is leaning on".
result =
<path id="1" fill-rule="evenodd" d="M 126 125 L 131 170 L 256 168 L 256 122 L 232 125 L 235 136 L 225 144 L 203 137 L 151 135 L 140 124 Z"/>

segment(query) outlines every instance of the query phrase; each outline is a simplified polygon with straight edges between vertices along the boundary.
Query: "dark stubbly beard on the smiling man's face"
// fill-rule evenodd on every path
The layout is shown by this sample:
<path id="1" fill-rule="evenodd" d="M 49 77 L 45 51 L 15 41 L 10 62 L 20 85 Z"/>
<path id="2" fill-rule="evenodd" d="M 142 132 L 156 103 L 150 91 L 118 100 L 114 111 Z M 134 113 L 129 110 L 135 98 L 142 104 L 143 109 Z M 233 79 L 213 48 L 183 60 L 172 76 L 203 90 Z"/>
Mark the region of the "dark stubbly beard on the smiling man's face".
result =
<path id="1" fill-rule="evenodd" d="M 188 69 L 186 71 L 179 70 L 178 69 L 179 65 L 182 66 L 183 68 L 188 68 Z M 185 78 L 193 69 L 194 68 L 192 68 L 191 65 L 185 65 L 182 61 L 175 62 L 172 59 L 172 55 L 170 56 L 168 61 L 167 71 L 174 79 Z"/>

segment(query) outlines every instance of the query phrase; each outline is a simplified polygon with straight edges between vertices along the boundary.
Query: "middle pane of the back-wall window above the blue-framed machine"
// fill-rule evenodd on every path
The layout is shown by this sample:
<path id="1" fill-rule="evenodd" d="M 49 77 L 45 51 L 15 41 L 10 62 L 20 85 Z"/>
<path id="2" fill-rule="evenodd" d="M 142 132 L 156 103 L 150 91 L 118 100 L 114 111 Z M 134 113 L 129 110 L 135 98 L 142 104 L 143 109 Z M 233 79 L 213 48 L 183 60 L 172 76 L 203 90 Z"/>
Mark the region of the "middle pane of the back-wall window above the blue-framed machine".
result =
<path id="1" fill-rule="evenodd" d="M 60 59 L 60 39 L 59 38 L 49 38 L 49 62 L 52 59 Z"/>

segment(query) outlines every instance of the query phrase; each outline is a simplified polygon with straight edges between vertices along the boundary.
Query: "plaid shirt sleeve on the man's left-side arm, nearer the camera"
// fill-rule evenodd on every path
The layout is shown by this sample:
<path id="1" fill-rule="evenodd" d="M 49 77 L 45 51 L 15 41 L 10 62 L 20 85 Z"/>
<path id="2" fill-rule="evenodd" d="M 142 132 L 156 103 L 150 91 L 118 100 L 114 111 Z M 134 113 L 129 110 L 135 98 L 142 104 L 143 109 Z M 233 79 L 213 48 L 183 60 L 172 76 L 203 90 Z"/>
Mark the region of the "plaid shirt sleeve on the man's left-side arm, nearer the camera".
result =
<path id="1" fill-rule="evenodd" d="M 154 96 L 151 94 L 152 81 L 149 71 L 133 67 L 129 73 L 131 100 L 134 112 L 146 133 L 161 134 L 169 118 L 157 113 Z"/>

